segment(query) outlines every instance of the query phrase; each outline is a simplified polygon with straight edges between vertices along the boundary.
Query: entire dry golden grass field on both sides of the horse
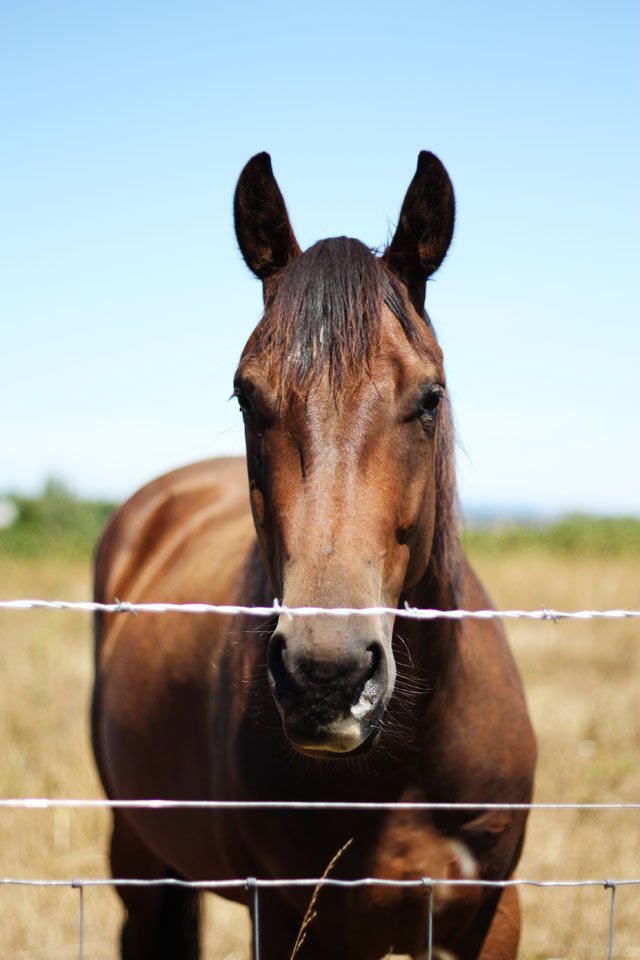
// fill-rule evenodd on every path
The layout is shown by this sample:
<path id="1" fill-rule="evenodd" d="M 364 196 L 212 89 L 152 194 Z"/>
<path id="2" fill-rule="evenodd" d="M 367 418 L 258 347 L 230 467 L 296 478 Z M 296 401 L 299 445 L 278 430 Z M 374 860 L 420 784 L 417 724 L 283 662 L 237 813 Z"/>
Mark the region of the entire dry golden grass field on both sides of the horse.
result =
<path id="1" fill-rule="evenodd" d="M 640 558 L 526 550 L 475 556 L 500 606 L 640 607 Z M 0 597 L 86 599 L 81 562 L 0 558 Z M 517 623 L 510 636 L 539 741 L 536 799 L 640 800 L 640 622 Z M 88 738 L 91 623 L 62 612 L 0 613 L 0 796 L 99 797 Z M 104 811 L 0 810 L 0 876 L 106 877 Z M 640 813 L 536 812 L 519 876 L 640 877 Z M 611 894 L 526 888 L 520 956 L 607 956 Z M 120 910 L 109 888 L 85 893 L 87 960 L 116 960 Z M 0 885 L 0 943 L 14 960 L 78 956 L 79 893 Z M 213 931 L 215 926 L 215 932 Z M 209 898 L 205 955 L 248 956 L 239 907 Z M 614 956 L 640 960 L 640 887 L 616 898 Z M 286 960 L 286 958 L 285 958 Z"/>

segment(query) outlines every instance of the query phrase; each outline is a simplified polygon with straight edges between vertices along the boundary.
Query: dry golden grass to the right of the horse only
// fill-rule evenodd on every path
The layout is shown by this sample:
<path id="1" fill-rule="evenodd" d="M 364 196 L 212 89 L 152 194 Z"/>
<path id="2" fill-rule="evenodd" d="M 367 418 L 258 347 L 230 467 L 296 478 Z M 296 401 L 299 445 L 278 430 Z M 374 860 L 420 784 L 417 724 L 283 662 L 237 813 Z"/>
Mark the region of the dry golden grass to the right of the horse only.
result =
<path id="1" fill-rule="evenodd" d="M 477 553 L 500 607 L 638 608 L 640 556 Z M 640 801 L 640 627 L 637 620 L 509 626 L 538 737 L 535 799 Z M 638 811 L 534 811 L 520 877 L 640 877 Z M 523 960 L 607 955 L 611 894 L 522 891 Z M 640 957 L 640 888 L 616 894 L 615 952 Z"/>

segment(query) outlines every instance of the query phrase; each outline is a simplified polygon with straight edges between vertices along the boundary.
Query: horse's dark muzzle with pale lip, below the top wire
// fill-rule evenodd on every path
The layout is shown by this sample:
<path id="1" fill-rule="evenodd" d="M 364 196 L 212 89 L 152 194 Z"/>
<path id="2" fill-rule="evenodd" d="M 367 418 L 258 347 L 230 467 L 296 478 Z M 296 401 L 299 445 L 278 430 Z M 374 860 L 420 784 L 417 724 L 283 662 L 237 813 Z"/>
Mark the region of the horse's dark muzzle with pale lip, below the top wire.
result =
<path id="1" fill-rule="evenodd" d="M 378 742 L 395 666 L 384 640 L 358 629 L 332 636 L 298 622 L 278 625 L 269 642 L 271 691 L 291 744 L 307 756 L 354 756 Z"/>

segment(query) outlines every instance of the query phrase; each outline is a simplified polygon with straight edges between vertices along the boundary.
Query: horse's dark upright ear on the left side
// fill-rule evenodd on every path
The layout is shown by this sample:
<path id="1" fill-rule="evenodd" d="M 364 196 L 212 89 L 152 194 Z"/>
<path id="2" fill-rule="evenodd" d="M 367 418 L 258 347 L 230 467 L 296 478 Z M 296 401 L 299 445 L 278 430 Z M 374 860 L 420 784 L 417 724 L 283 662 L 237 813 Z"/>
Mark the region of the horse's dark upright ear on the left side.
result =
<path id="1" fill-rule="evenodd" d="M 245 263 L 263 282 L 300 253 L 268 153 L 252 157 L 240 174 L 233 213 Z"/>

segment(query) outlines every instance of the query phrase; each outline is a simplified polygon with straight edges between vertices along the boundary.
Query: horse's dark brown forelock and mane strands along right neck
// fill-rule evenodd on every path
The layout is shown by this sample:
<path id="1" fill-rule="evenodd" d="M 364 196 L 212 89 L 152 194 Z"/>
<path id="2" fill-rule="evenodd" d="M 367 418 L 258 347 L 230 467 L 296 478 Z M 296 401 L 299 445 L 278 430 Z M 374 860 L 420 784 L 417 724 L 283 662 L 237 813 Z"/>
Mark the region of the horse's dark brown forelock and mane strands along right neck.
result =
<path id="1" fill-rule="evenodd" d="M 264 315 L 246 355 L 266 364 L 281 403 L 304 396 L 325 372 L 336 401 L 357 389 L 371 373 L 380 344 L 382 308 L 397 317 L 409 343 L 432 353 L 425 337 L 433 333 L 425 313 L 416 322 L 401 285 L 359 240 L 320 240 L 292 260 L 266 297 Z M 449 586 L 456 603 L 461 581 L 458 498 L 454 465 L 454 428 L 445 400 L 439 417 L 436 454 L 436 518 L 427 576 Z"/>

